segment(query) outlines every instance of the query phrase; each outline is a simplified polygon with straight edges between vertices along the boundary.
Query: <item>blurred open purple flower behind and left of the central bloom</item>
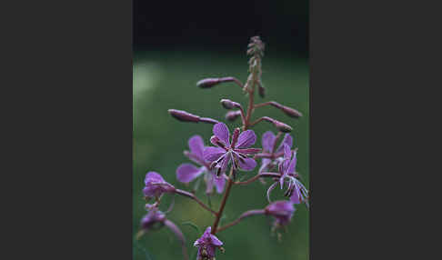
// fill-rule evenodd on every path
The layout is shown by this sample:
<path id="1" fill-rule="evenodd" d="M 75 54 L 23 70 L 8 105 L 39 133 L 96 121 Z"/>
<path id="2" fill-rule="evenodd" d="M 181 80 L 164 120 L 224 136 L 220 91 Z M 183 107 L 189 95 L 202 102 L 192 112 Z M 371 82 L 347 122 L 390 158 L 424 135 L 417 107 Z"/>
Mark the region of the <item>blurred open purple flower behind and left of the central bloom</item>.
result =
<path id="1" fill-rule="evenodd" d="M 176 169 L 176 178 L 182 183 L 190 183 L 200 175 L 205 175 L 204 180 L 206 182 L 206 194 L 211 194 L 213 192 L 214 185 L 216 186 L 216 192 L 221 194 L 226 185 L 226 179 L 224 176 L 216 177 L 215 170 L 209 170 L 210 162 L 204 158 L 204 142 L 203 138 L 199 135 L 192 136 L 188 145 L 190 152 L 185 151 L 185 155 L 189 157 L 190 160 L 200 165 L 196 167 L 192 164 L 182 164 Z"/>

